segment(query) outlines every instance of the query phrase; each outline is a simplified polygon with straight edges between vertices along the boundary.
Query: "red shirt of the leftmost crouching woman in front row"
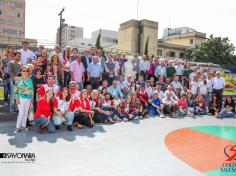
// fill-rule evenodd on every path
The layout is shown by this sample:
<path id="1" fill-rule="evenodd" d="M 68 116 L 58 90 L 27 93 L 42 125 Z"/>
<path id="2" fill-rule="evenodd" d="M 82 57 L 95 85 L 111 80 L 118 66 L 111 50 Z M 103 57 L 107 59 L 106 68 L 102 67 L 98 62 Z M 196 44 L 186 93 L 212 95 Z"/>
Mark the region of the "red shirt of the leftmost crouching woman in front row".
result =
<path id="1" fill-rule="evenodd" d="M 41 98 L 38 100 L 37 109 L 34 113 L 34 118 L 39 118 L 41 116 L 45 116 L 48 118 L 52 115 L 52 109 L 50 107 L 50 102 L 47 102 L 45 98 Z"/>

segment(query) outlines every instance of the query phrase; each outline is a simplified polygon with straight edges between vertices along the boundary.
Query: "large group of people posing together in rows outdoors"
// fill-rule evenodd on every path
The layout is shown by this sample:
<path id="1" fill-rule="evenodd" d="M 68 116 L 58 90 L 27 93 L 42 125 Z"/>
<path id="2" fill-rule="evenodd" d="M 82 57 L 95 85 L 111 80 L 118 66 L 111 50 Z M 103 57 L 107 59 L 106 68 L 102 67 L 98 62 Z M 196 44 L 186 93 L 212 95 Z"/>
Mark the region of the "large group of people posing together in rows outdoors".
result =
<path id="1" fill-rule="evenodd" d="M 219 71 L 171 60 L 134 55 L 133 73 L 124 77 L 125 54 L 92 48 L 48 52 L 9 46 L 1 56 L 4 104 L 18 113 L 16 131 L 34 125 L 39 133 L 66 126 L 92 128 L 148 117 L 179 118 L 213 115 L 235 117 L 233 97 L 224 103 L 225 80 Z"/>

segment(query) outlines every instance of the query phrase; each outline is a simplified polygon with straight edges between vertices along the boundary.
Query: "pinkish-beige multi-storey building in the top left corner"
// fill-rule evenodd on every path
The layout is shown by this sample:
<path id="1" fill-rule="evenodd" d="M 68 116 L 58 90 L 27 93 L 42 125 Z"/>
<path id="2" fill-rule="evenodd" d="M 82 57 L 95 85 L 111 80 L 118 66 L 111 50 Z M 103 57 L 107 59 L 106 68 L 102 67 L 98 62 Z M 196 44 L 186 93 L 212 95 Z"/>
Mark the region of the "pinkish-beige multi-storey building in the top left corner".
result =
<path id="1" fill-rule="evenodd" d="M 0 54 L 8 45 L 20 48 L 22 41 L 37 46 L 37 40 L 25 38 L 25 0 L 0 0 Z"/>

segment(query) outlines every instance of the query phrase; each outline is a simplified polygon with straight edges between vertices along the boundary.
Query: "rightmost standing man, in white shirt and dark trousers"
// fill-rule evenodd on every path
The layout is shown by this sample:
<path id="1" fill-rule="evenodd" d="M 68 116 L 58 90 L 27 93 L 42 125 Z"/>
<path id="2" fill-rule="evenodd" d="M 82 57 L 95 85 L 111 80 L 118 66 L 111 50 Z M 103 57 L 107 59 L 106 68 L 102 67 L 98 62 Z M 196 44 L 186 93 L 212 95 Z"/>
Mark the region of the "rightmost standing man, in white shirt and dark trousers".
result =
<path id="1" fill-rule="evenodd" d="M 220 106 L 222 106 L 222 96 L 225 87 L 225 79 L 221 77 L 220 72 L 216 72 L 216 77 L 213 79 L 213 94 L 216 94 L 218 100 L 220 101 Z"/>

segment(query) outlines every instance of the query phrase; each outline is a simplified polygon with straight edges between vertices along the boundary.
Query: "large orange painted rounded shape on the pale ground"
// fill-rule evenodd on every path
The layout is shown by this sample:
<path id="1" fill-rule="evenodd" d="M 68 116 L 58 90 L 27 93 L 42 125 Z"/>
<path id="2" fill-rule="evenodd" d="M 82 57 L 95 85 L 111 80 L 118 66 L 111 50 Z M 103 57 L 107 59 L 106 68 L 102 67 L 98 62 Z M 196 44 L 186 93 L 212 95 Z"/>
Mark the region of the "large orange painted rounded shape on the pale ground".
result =
<path id="1" fill-rule="evenodd" d="M 165 138 L 167 148 L 191 167 L 208 172 L 218 169 L 226 161 L 224 148 L 235 142 L 189 128 L 169 133 Z"/>

